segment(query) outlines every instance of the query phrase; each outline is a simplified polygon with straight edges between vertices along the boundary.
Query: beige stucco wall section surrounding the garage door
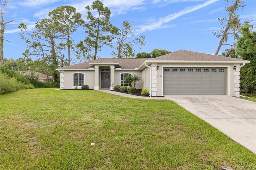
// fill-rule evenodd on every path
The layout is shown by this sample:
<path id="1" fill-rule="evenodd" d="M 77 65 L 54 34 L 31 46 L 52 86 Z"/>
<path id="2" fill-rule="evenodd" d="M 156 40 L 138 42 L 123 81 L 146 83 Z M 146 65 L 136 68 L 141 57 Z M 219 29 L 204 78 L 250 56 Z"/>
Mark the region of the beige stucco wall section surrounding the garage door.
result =
<path id="1" fill-rule="evenodd" d="M 151 64 L 150 65 L 152 68 L 152 96 L 162 96 L 162 78 L 163 78 L 163 67 L 172 67 L 172 66 L 179 66 L 179 67 L 226 67 L 227 68 L 227 74 L 226 74 L 226 95 L 230 96 L 239 96 L 239 74 L 240 74 L 240 69 L 239 69 L 239 64 L 236 64 L 237 68 L 236 71 L 234 71 L 233 67 L 234 64 L 182 64 L 182 63 L 173 63 L 173 64 L 163 64 L 163 63 L 158 63 L 159 69 L 157 71 L 156 66 L 157 64 Z M 229 69 L 228 69 L 229 66 Z M 155 68 L 154 68 L 155 67 Z M 229 81 L 229 83 L 228 83 Z M 154 87 L 155 86 L 155 87 Z M 229 90 L 230 89 L 230 90 Z M 154 93 L 154 91 L 156 93 Z M 229 93 L 230 91 L 230 93 Z"/>

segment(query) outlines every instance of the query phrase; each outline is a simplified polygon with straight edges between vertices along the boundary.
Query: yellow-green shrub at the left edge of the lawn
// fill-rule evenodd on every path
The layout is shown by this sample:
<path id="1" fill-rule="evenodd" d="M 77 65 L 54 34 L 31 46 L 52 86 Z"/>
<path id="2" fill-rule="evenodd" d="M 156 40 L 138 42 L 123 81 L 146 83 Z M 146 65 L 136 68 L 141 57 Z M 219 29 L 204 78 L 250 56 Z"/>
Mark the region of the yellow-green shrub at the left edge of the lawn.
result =
<path id="1" fill-rule="evenodd" d="M 0 72 L 0 94 L 6 94 L 20 89 L 20 84 L 15 77 L 8 77 L 8 75 Z"/>

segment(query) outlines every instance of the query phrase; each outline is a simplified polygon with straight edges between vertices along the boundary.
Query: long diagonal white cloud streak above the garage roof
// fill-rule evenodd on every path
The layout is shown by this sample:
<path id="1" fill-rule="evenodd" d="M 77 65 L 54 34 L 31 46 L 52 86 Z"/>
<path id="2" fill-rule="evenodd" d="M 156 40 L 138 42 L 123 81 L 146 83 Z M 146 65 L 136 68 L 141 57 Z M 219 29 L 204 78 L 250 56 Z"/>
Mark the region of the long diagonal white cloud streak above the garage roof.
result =
<path id="1" fill-rule="evenodd" d="M 165 26 L 166 23 L 168 23 L 180 16 L 183 16 L 190 12 L 199 10 L 200 8 L 206 7 L 214 2 L 216 2 L 216 0 L 210 0 L 210 1 L 204 2 L 203 4 L 199 4 L 196 6 L 188 6 L 187 8 L 184 8 L 183 10 L 181 10 L 179 12 L 175 12 L 175 13 L 170 14 L 164 18 L 159 18 L 158 21 L 156 21 L 156 22 L 152 22 L 151 24 L 147 24 L 147 25 L 138 26 L 139 29 L 136 31 L 136 34 L 140 34 L 145 31 L 156 30 L 159 28 L 166 28 L 166 26 Z"/>

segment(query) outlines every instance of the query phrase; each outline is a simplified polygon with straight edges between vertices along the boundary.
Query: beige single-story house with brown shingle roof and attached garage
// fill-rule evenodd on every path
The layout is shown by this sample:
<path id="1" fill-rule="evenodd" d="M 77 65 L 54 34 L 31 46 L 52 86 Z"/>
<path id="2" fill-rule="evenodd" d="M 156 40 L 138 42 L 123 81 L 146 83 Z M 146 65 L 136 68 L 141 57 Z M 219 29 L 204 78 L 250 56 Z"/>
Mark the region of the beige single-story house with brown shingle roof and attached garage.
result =
<path id="1" fill-rule="evenodd" d="M 101 58 L 56 70 L 60 72 L 60 89 L 84 84 L 94 90 L 112 89 L 115 85 L 128 86 L 125 77 L 138 75 L 142 81 L 136 83 L 136 88 L 148 88 L 150 96 L 239 97 L 240 67 L 249 62 L 179 50 L 156 58 Z"/>

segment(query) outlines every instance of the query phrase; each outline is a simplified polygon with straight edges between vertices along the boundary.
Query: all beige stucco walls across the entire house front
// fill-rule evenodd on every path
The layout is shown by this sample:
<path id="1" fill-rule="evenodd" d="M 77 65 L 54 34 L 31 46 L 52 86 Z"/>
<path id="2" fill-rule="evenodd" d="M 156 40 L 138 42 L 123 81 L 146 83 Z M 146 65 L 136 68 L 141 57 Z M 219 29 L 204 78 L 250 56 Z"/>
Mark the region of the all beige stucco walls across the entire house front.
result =
<path id="1" fill-rule="evenodd" d="M 156 69 L 156 66 L 159 66 L 159 69 Z M 236 71 L 233 69 L 234 64 L 182 64 L 182 63 L 152 63 L 151 67 L 151 77 L 150 77 L 150 68 L 146 67 L 142 71 L 126 71 L 126 70 L 114 70 L 114 86 L 120 85 L 120 74 L 121 73 L 131 73 L 132 75 L 138 75 L 142 78 L 142 81 L 136 83 L 137 89 L 144 89 L 147 88 L 150 91 L 151 87 L 151 95 L 152 96 L 162 96 L 162 79 L 163 79 L 163 67 L 172 67 L 172 66 L 179 66 L 179 67 L 226 67 L 226 95 L 236 96 L 239 97 L 240 91 L 240 64 L 236 64 Z M 100 69 L 103 67 L 100 67 Z M 72 74 L 73 73 L 84 73 L 85 74 L 85 84 L 89 85 L 90 89 L 95 88 L 94 81 L 94 69 L 92 70 L 84 70 L 84 71 L 60 71 L 60 89 L 73 89 L 72 87 Z M 99 71 L 100 74 L 100 71 Z M 100 75 L 99 75 L 100 78 Z M 111 78 L 112 79 L 112 78 Z M 151 79 L 151 81 L 150 81 Z M 100 80 L 99 85 L 100 85 Z M 150 85 L 151 83 L 151 85 Z"/>

